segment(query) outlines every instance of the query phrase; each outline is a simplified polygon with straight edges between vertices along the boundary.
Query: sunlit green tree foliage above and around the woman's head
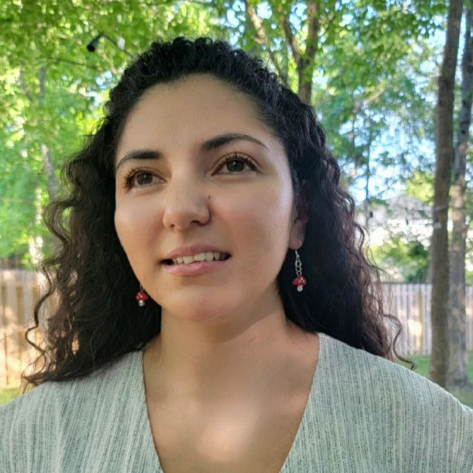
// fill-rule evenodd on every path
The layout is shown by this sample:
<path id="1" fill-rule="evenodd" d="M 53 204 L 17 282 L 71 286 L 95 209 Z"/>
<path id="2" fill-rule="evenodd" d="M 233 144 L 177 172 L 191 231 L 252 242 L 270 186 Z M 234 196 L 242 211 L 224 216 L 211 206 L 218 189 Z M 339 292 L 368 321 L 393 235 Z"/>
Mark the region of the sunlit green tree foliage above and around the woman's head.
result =
<path id="1" fill-rule="evenodd" d="M 367 201 L 382 198 L 424 169 L 419 141 L 432 137 L 432 106 L 430 81 L 419 77 L 445 12 L 443 0 L 1 3 L 0 259 L 20 254 L 28 264 L 41 238 L 47 253 L 41 211 L 62 192 L 60 165 L 102 116 L 127 52 L 154 38 L 226 39 L 262 56 L 293 90 L 314 84 L 310 97 L 347 185 L 364 188 Z M 106 38 L 86 51 L 100 32 L 126 51 Z"/>

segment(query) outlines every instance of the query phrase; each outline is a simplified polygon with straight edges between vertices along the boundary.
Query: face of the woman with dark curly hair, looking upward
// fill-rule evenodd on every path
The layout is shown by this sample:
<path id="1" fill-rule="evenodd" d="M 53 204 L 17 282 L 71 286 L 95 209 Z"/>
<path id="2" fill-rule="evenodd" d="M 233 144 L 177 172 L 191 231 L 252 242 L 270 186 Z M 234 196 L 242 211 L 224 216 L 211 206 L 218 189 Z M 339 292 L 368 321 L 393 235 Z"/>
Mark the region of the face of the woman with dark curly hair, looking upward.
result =
<path id="1" fill-rule="evenodd" d="M 148 89 L 115 166 L 117 234 L 163 314 L 204 320 L 274 306 L 306 219 L 284 147 L 246 95 L 208 75 Z M 212 250 L 230 257 L 207 262 Z M 207 259 L 170 264 L 175 251 Z"/>

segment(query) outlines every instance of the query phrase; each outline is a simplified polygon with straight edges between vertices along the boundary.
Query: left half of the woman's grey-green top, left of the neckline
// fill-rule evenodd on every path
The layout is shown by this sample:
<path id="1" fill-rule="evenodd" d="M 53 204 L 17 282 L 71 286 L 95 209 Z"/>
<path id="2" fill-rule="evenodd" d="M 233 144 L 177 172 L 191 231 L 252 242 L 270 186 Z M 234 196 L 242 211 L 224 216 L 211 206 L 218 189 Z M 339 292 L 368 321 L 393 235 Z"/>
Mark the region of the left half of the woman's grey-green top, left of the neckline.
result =
<path id="1" fill-rule="evenodd" d="M 0 473 L 159 473 L 142 352 L 0 407 Z"/>

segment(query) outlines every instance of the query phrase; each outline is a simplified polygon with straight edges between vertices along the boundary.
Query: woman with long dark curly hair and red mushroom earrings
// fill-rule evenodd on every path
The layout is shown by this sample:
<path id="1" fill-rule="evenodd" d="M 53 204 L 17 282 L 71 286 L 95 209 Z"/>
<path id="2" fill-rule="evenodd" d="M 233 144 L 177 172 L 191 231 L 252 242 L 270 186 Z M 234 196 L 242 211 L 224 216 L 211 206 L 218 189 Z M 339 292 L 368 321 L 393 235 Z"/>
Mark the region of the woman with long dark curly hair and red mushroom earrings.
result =
<path id="1" fill-rule="evenodd" d="M 473 411 L 390 361 L 323 129 L 261 61 L 154 43 L 67 177 L 2 472 L 472 471 Z"/>

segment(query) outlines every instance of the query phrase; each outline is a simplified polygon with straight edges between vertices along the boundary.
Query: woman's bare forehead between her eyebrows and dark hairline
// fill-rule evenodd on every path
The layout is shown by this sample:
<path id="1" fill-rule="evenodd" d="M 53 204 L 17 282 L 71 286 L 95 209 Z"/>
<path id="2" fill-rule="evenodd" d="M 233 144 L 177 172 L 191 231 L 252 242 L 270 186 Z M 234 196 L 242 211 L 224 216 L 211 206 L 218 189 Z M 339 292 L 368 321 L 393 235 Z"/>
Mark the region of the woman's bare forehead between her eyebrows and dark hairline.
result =
<path id="1" fill-rule="evenodd" d="M 145 91 L 128 115 L 120 150 L 165 143 L 202 141 L 219 132 L 273 135 L 258 117 L 250 98 L 231 85 L 207 74 L 157 84 Z M 274 137 L 275 138 L 275 137 Z"/>

